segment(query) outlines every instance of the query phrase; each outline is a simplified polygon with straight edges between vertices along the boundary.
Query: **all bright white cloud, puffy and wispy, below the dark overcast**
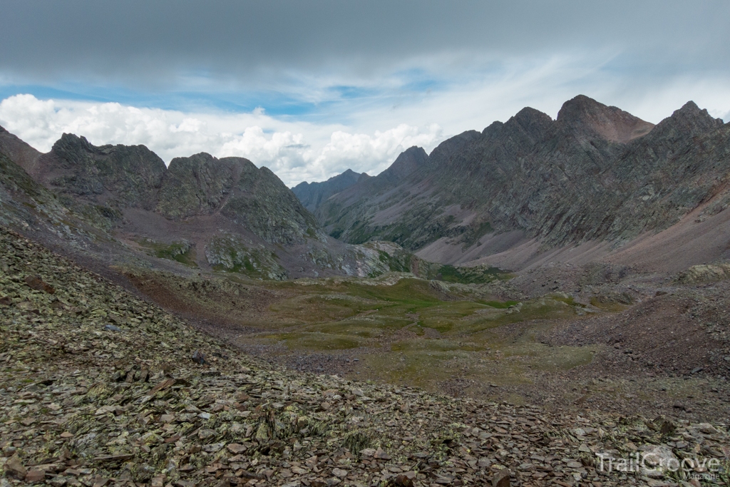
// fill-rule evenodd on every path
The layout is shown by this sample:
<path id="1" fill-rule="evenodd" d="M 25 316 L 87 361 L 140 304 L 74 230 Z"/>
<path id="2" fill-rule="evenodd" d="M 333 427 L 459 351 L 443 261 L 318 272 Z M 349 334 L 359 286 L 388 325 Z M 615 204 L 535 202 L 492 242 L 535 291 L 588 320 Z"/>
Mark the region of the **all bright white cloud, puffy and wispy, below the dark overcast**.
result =
<path id="1" fill-rule="evenodd" d="M 277 118 L 261 107 L 248 113 L 183 112 L 16 95 L 0 101 L 0 125 L 43 151 L 71 132 L 96 145 L 144 144 L 166 162 L 201 151 L 243 156 L 294 185 L 326 180 L 348 168 L 376 175 L 412 145 L 430 152 L 447 137 L 506 121 L 526 106 L 555 118 L 564 101 L 579 93 L 653 123 L 688 100 L 730 119 L 730 85 L 721 74 L 639 77 L 607 69 L 613 55 L 573 52 L 495 64 L 482 60 L 479 69 L 467 74 L 455 68 L 461 74 L 447 80 L 429 74 L 437 72 L 435 67 L 427 69 L 440 65 L 434 61 L 438 56 L 430 58 L 431 64 L 421 60 L 423 72 L 411 66 L 384 74 L 377 83 L 364 79 L 358 84 L 334 75 L 301 77 L 299 91 L 283 92 L 285 99 L 303 104 L 315 99 L 313 114 L 299 119 Z M 431 82 L 433 90 L 423 88 Z M 338 87 L 354 88 L 338 95 Z"/>

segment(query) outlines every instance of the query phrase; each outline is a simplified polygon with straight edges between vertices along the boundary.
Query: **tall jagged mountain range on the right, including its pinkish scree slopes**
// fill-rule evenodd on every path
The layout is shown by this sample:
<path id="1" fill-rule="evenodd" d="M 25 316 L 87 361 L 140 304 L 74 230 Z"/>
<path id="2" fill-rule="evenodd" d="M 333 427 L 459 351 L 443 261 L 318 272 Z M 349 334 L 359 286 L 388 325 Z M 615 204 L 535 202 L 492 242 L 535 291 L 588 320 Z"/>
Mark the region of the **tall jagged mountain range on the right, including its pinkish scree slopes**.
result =
<path id="1" fill-rule="evenodd" d="M 449 264 L 604 258 L 677 271 L 726 256 L 730 124 L 690 101 L 656 126 L 587 96 L 525 108 L 315 208 L 328 234 Z M 640 245 L 639 245 L 640 244 Z"/>

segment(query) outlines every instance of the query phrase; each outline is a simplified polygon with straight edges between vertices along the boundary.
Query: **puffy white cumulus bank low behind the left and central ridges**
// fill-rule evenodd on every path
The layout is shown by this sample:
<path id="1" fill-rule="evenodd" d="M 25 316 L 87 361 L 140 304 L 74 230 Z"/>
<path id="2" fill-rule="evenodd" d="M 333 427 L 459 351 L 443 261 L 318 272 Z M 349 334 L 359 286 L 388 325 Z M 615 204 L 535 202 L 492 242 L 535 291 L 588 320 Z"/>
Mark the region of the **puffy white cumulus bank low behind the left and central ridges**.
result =
<path id="1" fill-rule="evenodd" d="M 39 100 L 27 94 L 0 102 L 0 124 L 44 152 L 66 132 L 95 145 L 146 145 L 168 163 L 199 152 L 242 156 L 268 166 L 288 185 L 323 180 L 347 168 L 377 174 L 407 147 L 432 148 L 442 136 L 434 124 L 423 129 L 401 124 L 363 134 L 334 124 L 285 122 L 260 109 L 236 115 L 185 113 L 118 103 Z"/>

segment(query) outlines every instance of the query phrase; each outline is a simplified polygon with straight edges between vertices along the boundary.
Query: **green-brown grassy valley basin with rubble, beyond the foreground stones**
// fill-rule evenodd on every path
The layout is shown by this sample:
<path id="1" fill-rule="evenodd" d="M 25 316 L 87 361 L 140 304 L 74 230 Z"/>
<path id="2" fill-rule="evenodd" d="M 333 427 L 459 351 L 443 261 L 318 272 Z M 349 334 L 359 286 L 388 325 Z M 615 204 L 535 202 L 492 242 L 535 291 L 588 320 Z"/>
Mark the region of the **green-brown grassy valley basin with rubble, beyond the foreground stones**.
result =
<path id="1" fill-rule="evenodd" d="M 729 282 L 639 275 L 580 285 L 570 272 L 485 285 L 407 274 L 267 284 L 128 277 L 211 334 L 303 372 L 556 411 L 730 417 Z M 541 295 L 541 280 L 573 292 Z"/>

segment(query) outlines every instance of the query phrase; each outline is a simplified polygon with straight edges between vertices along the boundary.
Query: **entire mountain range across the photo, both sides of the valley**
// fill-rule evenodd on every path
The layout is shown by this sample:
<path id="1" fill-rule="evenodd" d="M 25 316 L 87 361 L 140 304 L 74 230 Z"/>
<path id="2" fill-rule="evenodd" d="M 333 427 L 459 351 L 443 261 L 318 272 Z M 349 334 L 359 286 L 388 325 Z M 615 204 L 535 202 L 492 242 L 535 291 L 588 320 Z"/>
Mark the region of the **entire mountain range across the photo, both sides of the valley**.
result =
<path id="1" fill-rule="evenodd" d="M 429 262 L 680 272 L 730 256 L 730 124 L 691 101 L 656 126 L 587 96 L 555 120 L 527 107 L 377 176 L 292 190 L 245 158 L 166 166 L 73 134 L 39 153 L 0 128 L 0 164 L 0 223 L 112 264 L 282 280 Z"/>

